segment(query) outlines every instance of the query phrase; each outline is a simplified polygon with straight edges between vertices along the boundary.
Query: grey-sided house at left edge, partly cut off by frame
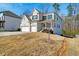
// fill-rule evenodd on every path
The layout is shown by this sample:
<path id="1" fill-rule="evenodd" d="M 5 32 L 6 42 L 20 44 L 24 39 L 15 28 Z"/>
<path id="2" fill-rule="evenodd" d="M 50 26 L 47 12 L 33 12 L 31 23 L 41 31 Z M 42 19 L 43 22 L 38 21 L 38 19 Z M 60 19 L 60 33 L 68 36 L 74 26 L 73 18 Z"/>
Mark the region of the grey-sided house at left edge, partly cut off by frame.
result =
<path id="1" fill-rule="evenodd" d="M 11 11 L 0 12 L 0 30 L 14 31 L 20 28 L 21 17 Z"/>

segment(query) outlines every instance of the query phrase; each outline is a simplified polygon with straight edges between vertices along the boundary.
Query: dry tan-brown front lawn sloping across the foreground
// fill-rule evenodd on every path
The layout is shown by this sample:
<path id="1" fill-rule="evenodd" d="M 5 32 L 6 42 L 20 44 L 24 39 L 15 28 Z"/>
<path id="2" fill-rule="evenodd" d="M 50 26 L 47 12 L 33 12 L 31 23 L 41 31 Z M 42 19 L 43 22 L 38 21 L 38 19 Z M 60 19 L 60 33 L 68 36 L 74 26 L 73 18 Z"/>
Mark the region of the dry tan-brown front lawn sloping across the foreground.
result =
<path id="1" fill-rule="evenodd" d="M 77 43 L 75 44 L 73 42 Z M 49 41 L 48 34 L 40 32 L 5 36 L 0 37 L 0 55 L 5 56 L 79 55 L 78 42 L 79 40 L 77 39 L 65 38 L 54 34 L 50 35 L 50 41 Z M 75 53 L 75 51 L 77 53 Z"/>

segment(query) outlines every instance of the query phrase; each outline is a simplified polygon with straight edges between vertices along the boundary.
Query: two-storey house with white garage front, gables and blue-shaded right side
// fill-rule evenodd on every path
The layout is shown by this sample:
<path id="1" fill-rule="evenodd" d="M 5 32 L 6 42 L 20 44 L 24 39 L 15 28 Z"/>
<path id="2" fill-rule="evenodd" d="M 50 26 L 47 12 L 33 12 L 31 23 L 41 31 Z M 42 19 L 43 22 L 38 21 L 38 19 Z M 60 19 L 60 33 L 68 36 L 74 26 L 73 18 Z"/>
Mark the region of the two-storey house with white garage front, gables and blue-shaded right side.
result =
<path id="1" fill-rule="evenodd" d="M 62 19 L 56 13 L 41 13 L 37 9 L 32 11 L 30 16 L 24 15 L 20 25 L 21 31 L 25 32 L 40 32 L 44 29 L 51 29 L 56 34 L 62 34 Z"/>

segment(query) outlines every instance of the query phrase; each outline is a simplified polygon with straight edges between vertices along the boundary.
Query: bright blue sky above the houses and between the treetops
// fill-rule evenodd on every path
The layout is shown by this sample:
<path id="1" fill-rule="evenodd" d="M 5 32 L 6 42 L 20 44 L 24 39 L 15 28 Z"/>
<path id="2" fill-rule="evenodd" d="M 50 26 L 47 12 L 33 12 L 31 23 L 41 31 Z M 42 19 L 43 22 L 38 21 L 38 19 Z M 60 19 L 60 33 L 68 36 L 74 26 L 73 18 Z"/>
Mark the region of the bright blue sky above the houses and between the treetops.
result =
<path id="1" fill-rule="evenodd" d="M 49 12 L 53 11 L 53 3 L 0 3 L 0 11 L 10 10 L 17 15 L 22 15 L 24 12 L 31 12 L 34 8 L 42 11 L 48 9 Z M 60 13 L 67 14 L 68 3 L 60 3 Z"/>

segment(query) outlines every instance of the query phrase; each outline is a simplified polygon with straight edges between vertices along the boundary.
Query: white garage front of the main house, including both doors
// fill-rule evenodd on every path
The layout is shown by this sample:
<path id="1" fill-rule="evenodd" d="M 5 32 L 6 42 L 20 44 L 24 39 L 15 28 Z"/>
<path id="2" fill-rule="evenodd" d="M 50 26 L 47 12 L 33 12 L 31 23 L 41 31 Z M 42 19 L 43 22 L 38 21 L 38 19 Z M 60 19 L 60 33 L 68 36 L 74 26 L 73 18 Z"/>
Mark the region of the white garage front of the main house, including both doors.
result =
<path id="1" fill-rule="evenodd" d="M 26 16 L 23 16 L 20 28 L 22 32 L 30 32 L 30 30 L 31 32 L 37 32 L 37 22 L 32 22 L 30 28 L 29 19 Z"/>

